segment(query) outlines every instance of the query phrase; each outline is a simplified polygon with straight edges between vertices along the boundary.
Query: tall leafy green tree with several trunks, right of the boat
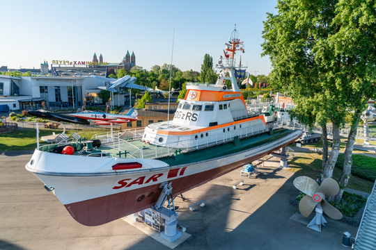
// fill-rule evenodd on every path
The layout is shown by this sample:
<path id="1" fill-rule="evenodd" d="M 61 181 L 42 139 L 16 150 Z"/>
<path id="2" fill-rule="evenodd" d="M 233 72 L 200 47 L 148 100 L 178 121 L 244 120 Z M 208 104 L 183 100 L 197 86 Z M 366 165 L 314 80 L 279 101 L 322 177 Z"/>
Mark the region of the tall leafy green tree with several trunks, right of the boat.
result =
<path id="1" fill-rule="evenodd" d="M 340 149 L 340 126 L 353 110 L 345 149 L 340 199 L 351 175 L 352 147 L 361 112 L 375 98 L 375 1 L 279 1 L 277 15 L 264 22 L 263 56 L 272 62 L 270 80 L 291 94 L 300 122 L 323 129 L 322 178 L 333 174 Z M 328 157 L 327 122 L 333 126 Z"/>

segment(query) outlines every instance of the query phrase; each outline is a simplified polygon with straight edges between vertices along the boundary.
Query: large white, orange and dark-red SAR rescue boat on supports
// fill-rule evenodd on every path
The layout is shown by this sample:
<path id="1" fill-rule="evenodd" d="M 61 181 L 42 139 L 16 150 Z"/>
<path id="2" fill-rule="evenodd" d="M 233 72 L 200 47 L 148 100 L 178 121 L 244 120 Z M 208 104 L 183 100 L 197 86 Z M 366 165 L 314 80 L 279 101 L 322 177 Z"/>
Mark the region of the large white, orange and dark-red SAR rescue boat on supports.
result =
<path id="1" fill-rule="evenodd" d="M 235 29 L 217 83 L 188 83 L 172 121 L 40 146 L 26 169 L 77 222 L 97 226 L 155 205 L 162 183 L 176 196 L 295 142 L 301 131 L 247 111 L 235 79 L 242 44 Z"/>

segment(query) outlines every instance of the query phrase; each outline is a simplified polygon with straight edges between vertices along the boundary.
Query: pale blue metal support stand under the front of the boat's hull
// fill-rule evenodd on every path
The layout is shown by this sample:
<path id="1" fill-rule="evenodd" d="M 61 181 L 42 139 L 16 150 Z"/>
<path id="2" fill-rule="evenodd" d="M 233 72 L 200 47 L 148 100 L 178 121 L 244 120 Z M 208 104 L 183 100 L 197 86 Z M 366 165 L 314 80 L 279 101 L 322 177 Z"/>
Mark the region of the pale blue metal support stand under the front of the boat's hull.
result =
<path id="1" fill-rule="evenodd" d="M 173 204 L 171 183 L 162 183 L 159 188 L 163 188 L 162 194 L 152 208 L 157 210 L 164 219 L 164 231 L 160 234 L 161 238 L 164 238 L 164 240 L 167 240 L 168 242 L 174 242 L 182 236 L 182 233 L 176 229 L 178 224 L 178 221 L 176 220 L 178 218 L 178 213 L 176 213 Z M 163 207 L 166 201 L 169 202 L 169 209 Z"/>

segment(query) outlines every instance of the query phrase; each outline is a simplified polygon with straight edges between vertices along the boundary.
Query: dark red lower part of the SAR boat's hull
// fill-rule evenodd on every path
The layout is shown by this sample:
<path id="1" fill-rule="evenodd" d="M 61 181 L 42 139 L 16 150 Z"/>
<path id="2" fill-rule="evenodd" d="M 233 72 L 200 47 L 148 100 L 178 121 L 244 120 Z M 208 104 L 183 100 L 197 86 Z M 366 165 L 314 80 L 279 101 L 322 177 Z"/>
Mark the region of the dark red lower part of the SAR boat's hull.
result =
<path id="1" fill-rule="evenodd" d="M 290 142 L 285 143 L 283 147 L 288 144 L 290 144 Z M 238 167 L 242 167 L 253 160 L 258 160 L 279 148 L 281 148 L 281 146 L 270 149 L 269 151 L 260 153 L 256 156 L 244 158 L 243 160 L 239 160 L 230 165 L 171 180 L 173 194 L 175 196 L 182 192 L 186 192 L 187 190 L 191 190 L 192 188 L 207 183 L 207 181 L 211 181 L 214 178 L 227 174 Z M 155 205 L 159 198 L 159 194 L 162 192 L 162 189 L 159 188 L 159 186 L 160 183 L 157 183 L 145 188 L 129 190 L 86 201 L 79 201 L 64 206 L 70 215 L 72 215 L 72 217 L 80 224 L 85 226 L 99 226 Z"/>

